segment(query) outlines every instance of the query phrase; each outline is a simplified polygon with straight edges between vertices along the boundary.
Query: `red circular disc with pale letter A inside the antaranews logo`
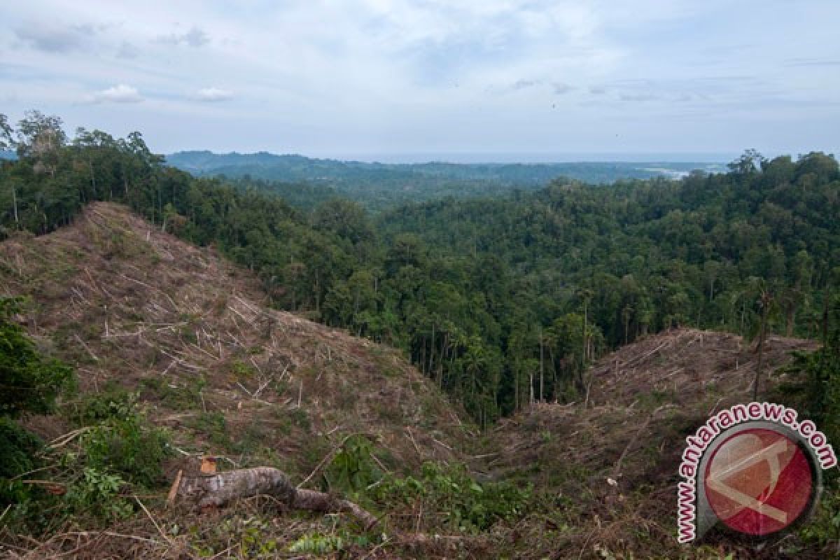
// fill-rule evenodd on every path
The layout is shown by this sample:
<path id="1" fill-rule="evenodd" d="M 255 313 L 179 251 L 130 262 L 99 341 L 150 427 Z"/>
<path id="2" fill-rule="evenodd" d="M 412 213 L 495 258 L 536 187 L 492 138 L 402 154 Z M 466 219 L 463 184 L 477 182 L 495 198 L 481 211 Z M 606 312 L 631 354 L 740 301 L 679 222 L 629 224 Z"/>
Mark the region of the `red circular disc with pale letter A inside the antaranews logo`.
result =
<path id="1" fill-rule="evenodd" d="M 706 465 L 706 499 L 734 531 L 764 536 L 799 519 L 814 490 L 801 447 L 780 432 L 752 428 L 733 434 Z"/>

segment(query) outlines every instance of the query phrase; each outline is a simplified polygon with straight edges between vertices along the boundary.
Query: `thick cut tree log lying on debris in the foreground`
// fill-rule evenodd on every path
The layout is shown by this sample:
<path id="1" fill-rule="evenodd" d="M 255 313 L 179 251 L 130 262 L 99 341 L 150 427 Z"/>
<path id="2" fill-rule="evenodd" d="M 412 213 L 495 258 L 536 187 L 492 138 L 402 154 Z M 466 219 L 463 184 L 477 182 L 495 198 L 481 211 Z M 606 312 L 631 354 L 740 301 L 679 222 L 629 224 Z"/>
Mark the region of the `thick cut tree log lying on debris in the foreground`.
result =
<path id="1" fill-rule="evenodd" d="M 271 467 L 239 468 L 217 474 L 182 476 L 170 493 L 175 501 L 190 503 L 198 509 L 221 507 L 240 498 L 270 495 L 293 510 L 349 513 L 370 529 L 378 520 L 349 500 L 315 490 L 298 489 L 289 477 Z"/>

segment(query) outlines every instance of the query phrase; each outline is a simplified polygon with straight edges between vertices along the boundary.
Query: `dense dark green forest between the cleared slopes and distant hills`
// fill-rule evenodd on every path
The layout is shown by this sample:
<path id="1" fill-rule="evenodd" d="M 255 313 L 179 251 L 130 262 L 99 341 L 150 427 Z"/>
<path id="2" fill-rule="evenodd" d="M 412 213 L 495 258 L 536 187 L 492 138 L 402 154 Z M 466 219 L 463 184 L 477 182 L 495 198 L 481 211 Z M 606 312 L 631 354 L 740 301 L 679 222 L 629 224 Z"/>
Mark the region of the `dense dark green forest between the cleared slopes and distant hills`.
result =
<path id="1" fill-rule="evenodd" d="M 764 322 L 816 337 L 837 285 L 840 176 L 822 153 L 748 151 L 726 174 L 559 180 L 371 217 L 356 201 L 304 212 L 270 183 L 192 177 L 139 133 L 68 139 L 60 118 L 33 112 L 14 129 L 3 118 L 3 135 L 19 158 L 0 176 L 4 236 L 126 203 L 254 270 L 273 305 L 401 348 L 483 424 L 579 399 L 591 359 L 648 332 L 754 335 Z"/>

